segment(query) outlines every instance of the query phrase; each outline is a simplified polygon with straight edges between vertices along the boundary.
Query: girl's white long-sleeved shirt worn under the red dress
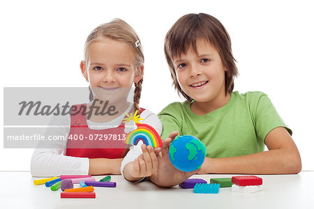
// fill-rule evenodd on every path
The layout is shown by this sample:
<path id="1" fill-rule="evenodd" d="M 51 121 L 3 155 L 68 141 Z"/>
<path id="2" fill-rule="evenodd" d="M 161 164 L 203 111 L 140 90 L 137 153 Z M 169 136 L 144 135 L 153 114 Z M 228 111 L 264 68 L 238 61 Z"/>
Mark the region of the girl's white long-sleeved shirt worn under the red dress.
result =
<path id="1" fill-rule="evenodd" d="M 132 105 L 128 107 L 126 113 L 130 111 Z M 87 120 L 89 128 L 94 130 L 104 130 L 112 125 L 119 126 L 125 114 L 115 118 L 107 123 L 95 123 Z M 161 134 L 163 125 L 158 116 L 151 111 L 145 109 L 140 114 L 140 118 L 144 118 L 141 123 L 145 123 L 154 127 L 158 134 Z M 63 135 L 66 136 L 70 132 L 70 116 L 53 117 L 50 124 L 59 124 L 58 128 L 50 128 L 48 125 L 46 136 Z M 60 175 L 87 175 L 89 173 L 88 157 L 70 157 L 64 155 L 66 151 L 67 141 L 58 141 L 57 148 L 36 148 L 31 157 L 31 175 L 37 177 L 60 176 Z M 130 148 L 133 150 L 133 147 Z M 142 150 L 141 150 L 142 151 Z M 135 158 L 134 158 L 135 159 Z M 133 160 L 134 160 L 133 159 Z M 132 160 L 131 160 L 132 161 Z M 128 160 L 130 162 L 130 160 Z"/>

